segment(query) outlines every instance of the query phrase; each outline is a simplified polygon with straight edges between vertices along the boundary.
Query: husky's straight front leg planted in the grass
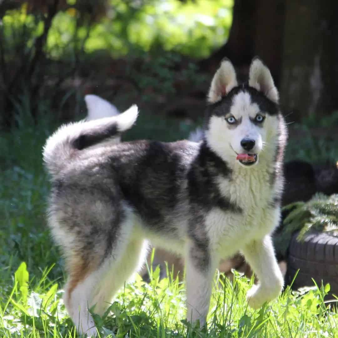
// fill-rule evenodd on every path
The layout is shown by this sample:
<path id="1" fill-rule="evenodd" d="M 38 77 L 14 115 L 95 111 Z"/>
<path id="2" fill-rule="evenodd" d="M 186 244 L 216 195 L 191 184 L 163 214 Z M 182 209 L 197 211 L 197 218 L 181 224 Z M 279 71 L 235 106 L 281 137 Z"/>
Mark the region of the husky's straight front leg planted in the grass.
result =
<path id="1" fill-rule="evenodd" d="M 187 320 L 207 321 L 212 280 L 216 270 L 215 257 L 204 243 L 191 242 L 186 248 Z"/>

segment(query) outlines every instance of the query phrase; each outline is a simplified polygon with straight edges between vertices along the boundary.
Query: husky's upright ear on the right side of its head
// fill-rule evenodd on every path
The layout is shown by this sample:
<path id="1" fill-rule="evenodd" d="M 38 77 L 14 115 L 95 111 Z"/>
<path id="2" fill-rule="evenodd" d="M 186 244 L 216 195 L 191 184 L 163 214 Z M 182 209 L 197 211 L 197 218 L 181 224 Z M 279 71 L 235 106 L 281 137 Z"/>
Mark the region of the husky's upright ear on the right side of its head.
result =
<path id="1" fill-rule="evenodd" d="M 262 92 L 271 101 L 278 103 L 279 95 L 271 73 L 259 58 L 254 58 L 251 62 L 249 86 Z"/>

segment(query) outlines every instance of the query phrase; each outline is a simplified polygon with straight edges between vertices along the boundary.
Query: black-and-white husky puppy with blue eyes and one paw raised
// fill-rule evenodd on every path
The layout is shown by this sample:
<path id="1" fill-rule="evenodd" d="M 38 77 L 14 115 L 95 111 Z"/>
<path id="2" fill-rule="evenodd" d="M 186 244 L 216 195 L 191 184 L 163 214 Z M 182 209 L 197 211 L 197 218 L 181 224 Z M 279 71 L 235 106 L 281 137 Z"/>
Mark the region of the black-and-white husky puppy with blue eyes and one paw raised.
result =
<path id="1" fill-rule="evenodd" d="M 254 59 L 239 85 L 225 59 L 211 82 L 200 143 L 107 139 L 136 121 L 126 112 L 58 129 L 44 147 L 51 175 L 49 226 L 68 271 L 65 305 L 81 333 L 143 263 L 147 240 L 183 254 L 187 319 L 206 323 L 221 258 L 241 250 L 258 276 L 255 309 L 283 276 L 270 233 L 279 224 L 286 128 L 268 68 Z"/>

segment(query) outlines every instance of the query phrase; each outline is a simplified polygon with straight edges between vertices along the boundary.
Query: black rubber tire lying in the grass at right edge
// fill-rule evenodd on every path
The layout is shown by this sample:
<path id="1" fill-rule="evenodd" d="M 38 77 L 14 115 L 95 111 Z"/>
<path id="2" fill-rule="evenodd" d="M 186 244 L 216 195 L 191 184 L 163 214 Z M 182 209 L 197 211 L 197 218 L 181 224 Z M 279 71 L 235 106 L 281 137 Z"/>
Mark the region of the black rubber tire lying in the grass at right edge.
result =
<path id="1" fill-rule="evenodd" d="M 330 283 L 330 294 L 338 296 L 338 237 L 312 232 L 298 242 L 297 235 L 290 242 L 286 282 L 290 284 L 299 269 L 293 289 L 314 286 L 313 278 L 319 287 L 321 281 Z"/>

